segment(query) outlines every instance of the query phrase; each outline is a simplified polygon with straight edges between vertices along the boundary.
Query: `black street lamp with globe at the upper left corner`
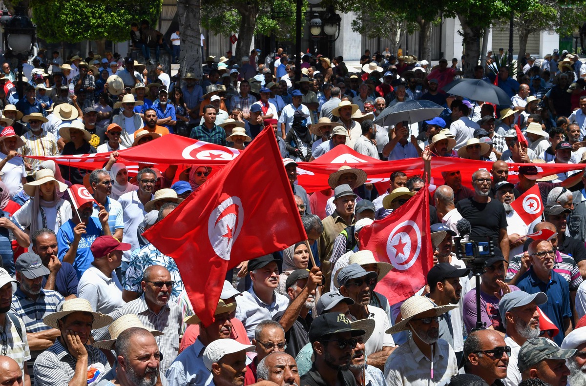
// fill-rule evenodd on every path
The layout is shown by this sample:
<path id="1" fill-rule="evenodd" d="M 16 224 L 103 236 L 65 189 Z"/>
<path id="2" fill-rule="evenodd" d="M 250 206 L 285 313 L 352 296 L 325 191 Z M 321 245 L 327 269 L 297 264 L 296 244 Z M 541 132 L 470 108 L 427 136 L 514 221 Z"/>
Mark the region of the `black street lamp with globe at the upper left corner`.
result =
<path id="1" fill-rule="evenodd" d="M 15 8 L 15 15 L 11 18 L 6 19 L 5 16 L 6 13 L 2 12 L 0 20 L 4 19 L 4 56 L 18 60 L 18 100 L 22 100 L 22 61 L 28 59 L 33 48 L 36 26 L 22 6 Z"/>

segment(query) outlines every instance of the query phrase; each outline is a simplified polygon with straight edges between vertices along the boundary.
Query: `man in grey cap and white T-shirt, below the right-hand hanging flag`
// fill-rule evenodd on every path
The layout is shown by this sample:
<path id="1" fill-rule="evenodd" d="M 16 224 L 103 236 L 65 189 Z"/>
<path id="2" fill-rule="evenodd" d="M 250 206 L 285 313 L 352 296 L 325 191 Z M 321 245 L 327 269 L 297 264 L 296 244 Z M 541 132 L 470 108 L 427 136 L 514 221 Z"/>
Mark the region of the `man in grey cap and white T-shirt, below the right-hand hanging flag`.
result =
<path id="1" fill-rule="evenodd" d="M 350 315 L 356 320 L 373 319 L 374 332 L 366 342 L 367 363 L 383 368 L 389 354 L 395 349 L 393 337 L 387 330 L 391 323 L 387 313 L 376 306 L 370 305 L 372 294 L 370 287 L 376 284 L 377 272 L 367 272 L 359 264 L 350 264 L 336 273 L 340 293 L 354 300 L 349 305 Z"/>

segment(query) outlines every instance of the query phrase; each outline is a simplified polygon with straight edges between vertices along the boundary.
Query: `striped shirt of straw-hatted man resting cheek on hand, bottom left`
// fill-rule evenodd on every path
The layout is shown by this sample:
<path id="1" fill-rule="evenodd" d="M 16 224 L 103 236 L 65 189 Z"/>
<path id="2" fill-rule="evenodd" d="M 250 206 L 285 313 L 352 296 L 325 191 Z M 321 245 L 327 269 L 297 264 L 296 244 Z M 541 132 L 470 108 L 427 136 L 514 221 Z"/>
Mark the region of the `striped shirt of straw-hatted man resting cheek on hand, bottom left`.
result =
<path id="1" fill-rule="evenodd" d="M 110 364 L 100 349 L 84 345 L 87 350 L 87 364 L 89 368 L 103 368 L 107 373 L 110 371 Z M 63 344 L 57 339 L 53 346 L 43 351 L 37 357 L 34 365 L 35 386 L 56 386 L 67 385 L 75 375 L 77 360 L 72 356 Z"/>

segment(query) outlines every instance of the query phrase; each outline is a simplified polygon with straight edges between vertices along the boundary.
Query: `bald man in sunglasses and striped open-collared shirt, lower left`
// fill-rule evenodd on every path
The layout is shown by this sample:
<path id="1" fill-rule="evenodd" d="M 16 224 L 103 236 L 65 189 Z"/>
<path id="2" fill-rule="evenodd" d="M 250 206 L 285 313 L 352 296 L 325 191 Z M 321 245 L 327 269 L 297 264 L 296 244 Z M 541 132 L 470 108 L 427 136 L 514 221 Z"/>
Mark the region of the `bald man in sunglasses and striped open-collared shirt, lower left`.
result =
<path id="1" fill-rule="evenodd" d="M 183 315 L 177 303 L 169 302 L 173 282 L 171 274 L 165 267 L 151 265 L 145 269 L 141 286 L 144 293 L 140 298 L 126 303 L 110 316 L 115 320 L 122 315 L 133 313 L 138 315 L 138 319 L 145 328 L 163 333 L 155 339 L 163 354 L 160 369 L 161 372 L 164 372 L 179 352 L 179 335 L 182 333 Z M 107 337 L 101 338 L 108 339 Z M 98 339 L 96 338 L 96 340 Z"/>

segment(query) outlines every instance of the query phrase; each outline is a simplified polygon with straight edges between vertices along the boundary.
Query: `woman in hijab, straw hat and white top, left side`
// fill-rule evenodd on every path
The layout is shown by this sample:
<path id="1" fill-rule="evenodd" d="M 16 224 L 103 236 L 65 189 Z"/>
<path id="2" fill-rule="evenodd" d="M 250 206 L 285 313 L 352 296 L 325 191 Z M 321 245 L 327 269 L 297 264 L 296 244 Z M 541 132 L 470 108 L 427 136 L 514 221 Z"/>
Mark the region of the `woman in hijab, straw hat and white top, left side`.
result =
<path id="1" fill-rule="evenodd" d="M 26 183 L 24 190 L 32 200 L 17 210 L 14 219 L 24 229 L 29 227 L 32 235 L 40 228 L 49 228 L 57 233 L 59 228 L 73 217 L 69 201 L 59 197 L 67 185 L 55 179 L 52 170 L 40 169 L 35 173 L 35 180 Z"/>

